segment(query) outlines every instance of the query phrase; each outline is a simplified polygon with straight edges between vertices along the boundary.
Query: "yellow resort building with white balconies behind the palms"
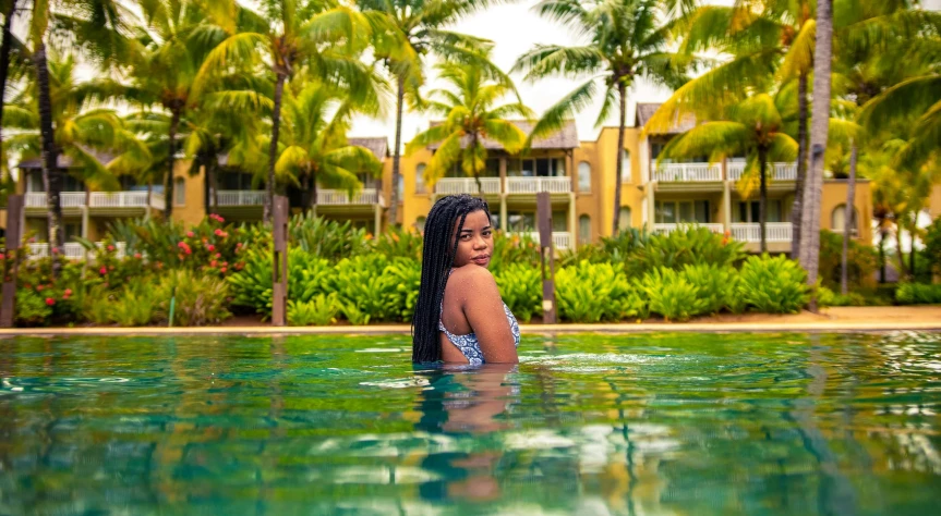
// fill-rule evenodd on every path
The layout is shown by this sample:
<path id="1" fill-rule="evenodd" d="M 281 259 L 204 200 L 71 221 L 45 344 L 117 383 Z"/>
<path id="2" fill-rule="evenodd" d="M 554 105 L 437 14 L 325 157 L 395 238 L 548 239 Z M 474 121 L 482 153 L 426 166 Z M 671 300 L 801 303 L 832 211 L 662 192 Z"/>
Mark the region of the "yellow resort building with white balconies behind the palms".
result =
<path id="1" fill-rule="evenodd" d="M 529 155 L 511 156 L 493 142 L 480 184 L 455 169 L 433 186 L 425 184 L 424 171 L 434 146 L 403 156 L 399 184 L 393 185 L 391 158 L 385 137 L 350 138 L 353 145 L 372 150 L 384 162 L 382 179 L 363 176 L 364 188 L 353 197 L 342 191 L 317 188 L 316 212 L 328 219 L 349 220 L 370 232 L 382 231 L 391 191 L 399 191 L 399 223 L 421 229 L 432 204 L 449 194 L 482 195 L 491 206 L 495 225 L 506 232 L 533 233 L 535 194 L 551 194 L 553 242 L 566 249 L 598 242 L 612 234 L 614 217 L 620 228 L 646 228 L 667 233 L 695 223 L 717 233 L 728 233 L 757 251 L 760 230 L 757 193 L 745 198 L 736 187 L 744 171 L 744 160 L 731 158 L 719 163 L 704 160 L 656 164 L 656 157 L 669 138 L 689 128 L 679 123 L 667 134 L 644 136 L 640 131 L 659 105 L 637 106 L 637 126 L 628 127 L 619 159 L 624 161 L 620 177 L 615 177 L 617 127 L 603 127 L 593 142 L 580 142 L 574 122 L 558 133 L 533 142 Z M 524 132 L 528 122 L 515 122 Z M 62 161 L 63 167 L 69 163 Z M 27 226 L 45 235 L 45 194 L 38 161 L 21 163 L 21 193 L 27 196 Z M 229 167 L 219 158 L 217 191 L 210 188 L 204 171 L 190 175 L 191 163 L 179 161 L 174 173 L 172 218 L 195 224 L 207 213 L 216 212 L 230 221 L 261 220 L 265 199 L 264 185 L 253 183 L 252 175 Z M 767 241 L 772 253 L 791 248 L 791 212 L 796 180 L 795 163 L 773 163 L 770 168 Z M 122 192 L 86 193 L 74 180 L 63 188 L 63 214 L 67 238 L 82 235 L 99 238 L 107 223 L 118 217 L 162 216 L 159 194 L 147 198 L 145 187 L 128 183 Z M 620 206 L 615 210 L 614 188 L 622 183 Z M 289 189 L 295 212 L 310 206 L 310 195 Z M 827 180 L 823 185 L 821 228 L 840 231 L 843 226 L 846 182 Z M 869 183 L 859 181 L 855 199 L 857 220 L 869 221 L 872 199 Z M 932 202 L 932 206 L 934 204 Z M 0 222 L 3 218 L 0 217 Z M 861 242 L 871 242 L 870 224 L 857 224 Z M 534 233 L 533 233 L 534 234 Z"/>

